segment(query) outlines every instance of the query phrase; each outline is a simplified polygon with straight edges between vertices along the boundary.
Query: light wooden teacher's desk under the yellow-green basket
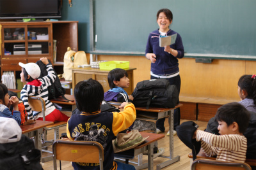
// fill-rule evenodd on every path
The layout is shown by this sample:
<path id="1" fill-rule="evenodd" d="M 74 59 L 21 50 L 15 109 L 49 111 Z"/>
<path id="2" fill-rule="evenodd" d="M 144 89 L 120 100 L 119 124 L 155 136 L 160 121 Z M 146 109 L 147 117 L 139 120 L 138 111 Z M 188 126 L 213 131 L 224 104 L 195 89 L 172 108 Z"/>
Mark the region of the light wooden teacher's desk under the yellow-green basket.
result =
<path id="1" fill-rule="evenodd" d="M 135 68 L 125 69 L 128 73 L 128 78 L 130 79 L 130 86 L 125 88 L 124 90 L 127 92 L 128 95 L 132 94 L 134 87 L 133 87 L 133 70 Z M 97 80 L 103 86 L 104 92 L 107 92 L 110 88 L 108 85 L 108 73 L 110 70 L 100 70 L 91 67 L 85 68 L 73 68 L 72 69 L 72 87 L 74 87 L 79 81 L 88 80 L 92 78 L 93 80 Z"/>

